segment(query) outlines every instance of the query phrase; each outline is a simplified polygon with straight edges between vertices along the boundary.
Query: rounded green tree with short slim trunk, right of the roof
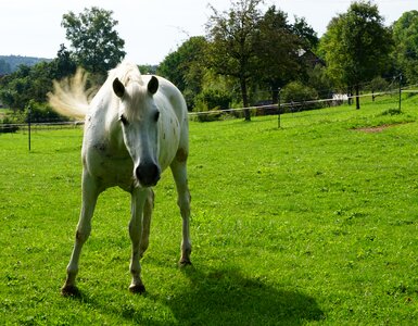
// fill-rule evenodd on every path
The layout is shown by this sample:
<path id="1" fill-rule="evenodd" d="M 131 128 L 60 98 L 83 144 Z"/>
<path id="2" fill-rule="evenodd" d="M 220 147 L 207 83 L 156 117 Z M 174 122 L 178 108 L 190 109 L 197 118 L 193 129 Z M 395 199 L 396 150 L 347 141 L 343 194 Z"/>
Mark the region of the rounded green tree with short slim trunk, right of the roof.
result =
<path id="1" fill-rule="evenodd" d="M 369 1 L 353 2 L 349 11 L 332 18 L 321 39 L 328 74 L 349 88 L 354 87 L 356 109 L 364 82 L 379 75 L 391 51 L 392 37 L 378 7 Z"/>

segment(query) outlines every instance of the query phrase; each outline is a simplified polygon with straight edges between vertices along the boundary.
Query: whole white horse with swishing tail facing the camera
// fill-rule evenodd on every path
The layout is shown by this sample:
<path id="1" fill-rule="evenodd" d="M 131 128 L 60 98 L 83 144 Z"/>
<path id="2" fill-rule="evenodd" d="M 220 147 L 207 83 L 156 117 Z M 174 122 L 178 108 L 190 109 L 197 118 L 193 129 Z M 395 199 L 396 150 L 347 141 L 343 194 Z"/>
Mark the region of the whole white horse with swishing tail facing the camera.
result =
<path id="1" fill-rule="evenodd" d="M 74 82 L 75 80 L 75 82 Z M 78 83 L 77 83 L 78 82 Z M 86 78 L 54 83 L 50 103 L 59 112 L 74 117 L 86 116 L 83 141 L 83 204 L 73 254 L 67 266 L 63 294 L 77 294 L 76 276 L 81 247 L 91 230 L 91 217 L 98 196 L 118 186 L 131 193 L 130 273 L 131 292 L 145 290 L 141 280 L 140 258 L 149 243 L 152 186 L 170 167 L 182 217 L 180 264 L 190 264 L 190 193 L 187 181 L 189 153 L 187 106 L 180 91 L 168 80 L 141 75 L 134 64 L 123 62 L 91 100 L 85 91 Z M 90 103 L 89 103 L 90 102 Z"/>

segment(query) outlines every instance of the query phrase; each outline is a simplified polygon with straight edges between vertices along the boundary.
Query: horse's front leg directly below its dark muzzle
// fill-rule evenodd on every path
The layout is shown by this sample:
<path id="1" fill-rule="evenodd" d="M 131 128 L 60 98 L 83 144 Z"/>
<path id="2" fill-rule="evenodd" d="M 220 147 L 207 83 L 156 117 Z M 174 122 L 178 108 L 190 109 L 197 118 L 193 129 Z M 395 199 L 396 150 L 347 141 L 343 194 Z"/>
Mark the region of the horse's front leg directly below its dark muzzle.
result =
<path id="1" fill-rule="evenodd" d="M 130 259 L 130 274 L 132 275 L 132 281 L 129 286 L 129 290 L 132 293 L 142 293 L 145 291 L 145 287 L 141 280 L 141 264 L 139 262 L 141 258 L 141 238 L 142 238 L 142 216 L 145 200 L 150 189 L 135 188 L 131 193 L 131 218 L 129 223 L 129 236 L 132 243 L 132 255 Z"/>

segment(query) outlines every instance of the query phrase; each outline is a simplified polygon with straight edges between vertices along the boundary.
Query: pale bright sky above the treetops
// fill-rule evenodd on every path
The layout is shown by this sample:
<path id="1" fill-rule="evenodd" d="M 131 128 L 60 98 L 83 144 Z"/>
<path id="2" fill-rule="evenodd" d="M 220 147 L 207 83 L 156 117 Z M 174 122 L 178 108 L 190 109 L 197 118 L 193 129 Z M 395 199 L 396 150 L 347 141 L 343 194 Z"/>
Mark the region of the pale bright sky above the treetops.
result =
<path id="1" fill-rule="evenodd" d="M 351 0 L 265 0 L 284 11 L 289 21 L 305 17 L 320 37 L 332 17 L 344 13 Z M 404 12 L 418 10 L 417 0 L 375 0 L 385 25 Z M 205 24 L 213 13 L 228 10 L 230 0 L 0 0 L 0 55 L 53 59 L 64 43 L 63 14 L 78 14 L 85 8 L 111 10 L 118 22 L 116 30 L 125 40 L 127 59 L 137 64 L 159 64 L 191 36 L 205 35 Z"/>

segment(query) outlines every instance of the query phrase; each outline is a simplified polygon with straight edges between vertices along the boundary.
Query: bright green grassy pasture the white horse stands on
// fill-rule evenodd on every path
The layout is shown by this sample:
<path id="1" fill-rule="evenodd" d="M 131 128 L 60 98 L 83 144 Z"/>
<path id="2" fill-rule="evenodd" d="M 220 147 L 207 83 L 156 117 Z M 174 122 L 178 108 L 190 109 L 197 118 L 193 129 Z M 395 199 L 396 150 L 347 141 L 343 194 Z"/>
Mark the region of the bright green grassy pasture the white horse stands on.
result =
<path id="1" fill-rule="evenodd" d="M 1 325 L 415 325 L 418 97 L 191 123 L 193 266 L 170 174 L 155 189 L 144 296 L 128 291 L 129 196 L 103 193 L 60 287 L 80 204 L 80 129 L 0 135 Z"/>

